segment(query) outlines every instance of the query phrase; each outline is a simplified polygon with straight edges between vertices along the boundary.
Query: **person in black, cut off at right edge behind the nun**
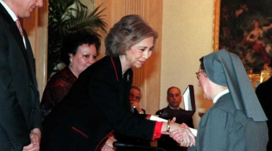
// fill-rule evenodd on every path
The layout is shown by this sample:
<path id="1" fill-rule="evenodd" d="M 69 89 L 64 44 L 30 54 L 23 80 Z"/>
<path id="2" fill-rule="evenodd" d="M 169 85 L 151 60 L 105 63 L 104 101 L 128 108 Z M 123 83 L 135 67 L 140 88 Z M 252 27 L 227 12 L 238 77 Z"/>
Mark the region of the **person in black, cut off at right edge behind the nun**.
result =
<path id="1" fill-rule="evenodd" d="M 272 97 L 271 97 L 271 90 L 272 90 L 272 59 L 270 59 L 270 65 L 269 65 L 269 70 L 270 70 L 270 78 L 264 82 L 262 82 L 258 87 L 256 88 L 255 92 L 257 94 L 257 97 L 261 103 L 261 106 L 264 110 L 264 113 L 268 119 L 266 121 L 267 127 L 268 127 L 268 136 L 269 140 L 267 143 L 267 148 L 266 150 L 272 150 L 272 123 L 271 123 L 271 102 L 272 102 Z"/>

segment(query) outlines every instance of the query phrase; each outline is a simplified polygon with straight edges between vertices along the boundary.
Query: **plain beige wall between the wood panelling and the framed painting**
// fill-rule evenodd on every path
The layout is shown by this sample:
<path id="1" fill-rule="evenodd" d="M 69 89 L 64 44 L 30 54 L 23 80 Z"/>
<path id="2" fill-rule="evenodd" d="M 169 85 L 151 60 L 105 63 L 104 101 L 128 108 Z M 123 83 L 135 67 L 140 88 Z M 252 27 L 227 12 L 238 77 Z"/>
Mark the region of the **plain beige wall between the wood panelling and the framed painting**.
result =
<path id="1" fill-rule="evenodd" d="M 167 106 L 166 91 L 177 86 L 184 91 L 194 85 L 197 111 L 194 125 L 200 117 L 199 108 L 209 108 L 211 101 L 203 99 L 195 72 L 199 58 L 212 52 L 213 0 L 164 0 L 160 83 L 160 108 Z"/>

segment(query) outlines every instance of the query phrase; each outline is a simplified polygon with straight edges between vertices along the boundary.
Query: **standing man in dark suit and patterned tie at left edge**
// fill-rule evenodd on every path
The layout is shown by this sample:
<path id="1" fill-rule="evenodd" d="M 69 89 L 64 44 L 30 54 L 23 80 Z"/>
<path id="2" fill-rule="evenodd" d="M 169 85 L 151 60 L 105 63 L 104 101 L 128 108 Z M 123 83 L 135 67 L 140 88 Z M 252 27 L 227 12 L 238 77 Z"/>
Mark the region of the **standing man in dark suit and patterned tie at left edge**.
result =
<path id="1" fill-rule="evenodd" d="M 35 60 L 20 18 L 42 0 L 0 0 L 0 150 L 39 150 L 41 117 Z"/>

